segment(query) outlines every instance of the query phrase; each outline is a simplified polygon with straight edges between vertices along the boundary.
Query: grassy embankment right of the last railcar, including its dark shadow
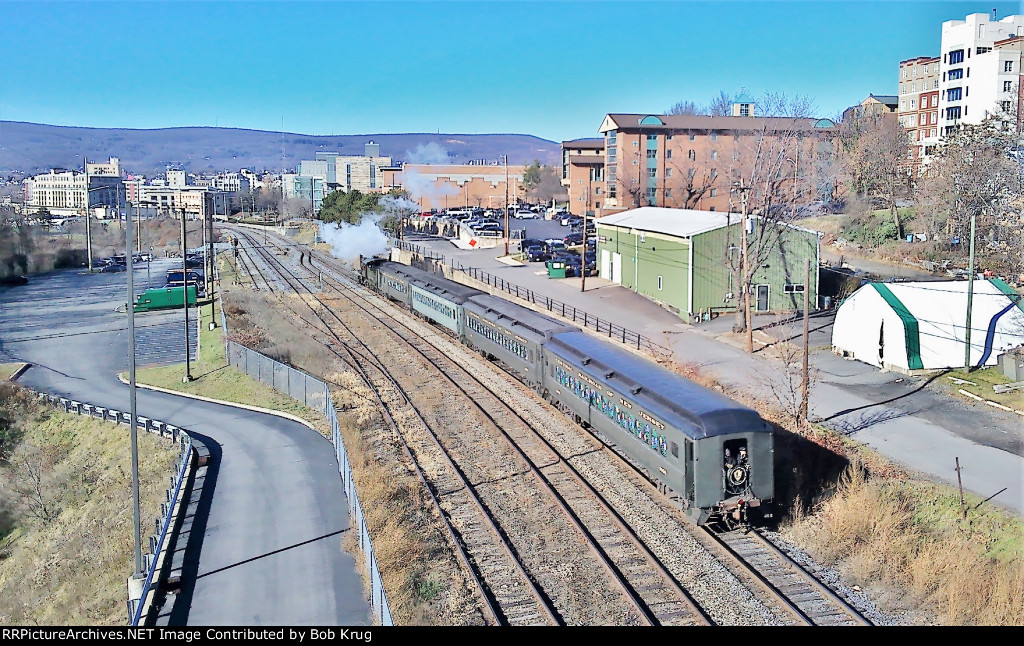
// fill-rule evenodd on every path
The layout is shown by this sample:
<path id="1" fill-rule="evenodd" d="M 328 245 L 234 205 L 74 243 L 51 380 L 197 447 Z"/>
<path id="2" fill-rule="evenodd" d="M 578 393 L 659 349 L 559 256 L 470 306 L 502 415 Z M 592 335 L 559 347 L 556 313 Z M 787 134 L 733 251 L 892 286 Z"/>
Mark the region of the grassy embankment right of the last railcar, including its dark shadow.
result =
<path id="1" fill-rule="evenodd" d="M 729 391 L 699 367 L 675 369 L 775 425 L 783 534 L 883 610 L 911 623 L 1024 625 L 1020 516 L 966 494 L 965 518 L 954 487 L 823 426 L 800 428 L 782 406 Z"/>

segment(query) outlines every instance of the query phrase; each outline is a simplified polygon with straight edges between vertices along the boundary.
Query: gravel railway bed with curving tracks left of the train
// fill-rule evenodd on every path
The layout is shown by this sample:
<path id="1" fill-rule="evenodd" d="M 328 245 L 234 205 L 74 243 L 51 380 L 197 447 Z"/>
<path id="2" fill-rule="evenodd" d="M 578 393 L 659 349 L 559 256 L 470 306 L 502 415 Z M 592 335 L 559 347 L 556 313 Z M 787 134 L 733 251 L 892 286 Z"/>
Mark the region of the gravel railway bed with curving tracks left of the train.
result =
<path id="1" fill-rule="evenodd" d="M 487 622 L 868 623 L 757 531 L 690 523 L 600 438 L 334 259 L 232 232 L 249 285 L 299 295 L 286 306 L 374 393 Z"/>

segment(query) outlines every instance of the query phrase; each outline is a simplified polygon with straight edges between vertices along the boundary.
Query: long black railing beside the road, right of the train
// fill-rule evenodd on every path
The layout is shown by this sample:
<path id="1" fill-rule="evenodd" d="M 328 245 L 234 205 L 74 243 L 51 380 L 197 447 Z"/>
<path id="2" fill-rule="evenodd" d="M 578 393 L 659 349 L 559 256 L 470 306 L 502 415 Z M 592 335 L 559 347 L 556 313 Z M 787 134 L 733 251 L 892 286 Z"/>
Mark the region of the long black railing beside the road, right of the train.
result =
<path id="1" fill-rule="evenodd" d="M 591 314 L 586 310 L 580 309 L 573 305 L 568 305 L 549 296 L 538 294 L 534 290 L 520 287 L 515 283 L 510 283 L 501 276 L 494 275 L 493 273 L 482 269 L 478 269 L 476 267 L 465 267 L 461 262 L 458 262 L 455 259 L 445 259 L 443 255 L 426 250 L 414 243 L 391 239 L 391 246 L 402 251 L 409 251 L 417 254 L 425 260 L 430 260 L 437 264 L 447 265 L 453 271 L 460 271 L 471 278 L 501 290 L 510 296 L 514 296 L 539 307 L 544 307 L 553 314 L 558 314 L 562 318 L 570 319 L 584 328 L 590 328 L 601 335 L 607 335 L 609 339 L 618 341 L 624 345 L 635 347 L 637 350 L 646 348 L 648 351 L 655 354 L 667 354 L 670 352 L 668 348 L 655 343 L 649 337 L 645 337 L 639 332 L 634 332 L 628 328 L 624 328 L 623 326 L 615 325 L 610 320 L 602 319 L 601 317 Z"/>

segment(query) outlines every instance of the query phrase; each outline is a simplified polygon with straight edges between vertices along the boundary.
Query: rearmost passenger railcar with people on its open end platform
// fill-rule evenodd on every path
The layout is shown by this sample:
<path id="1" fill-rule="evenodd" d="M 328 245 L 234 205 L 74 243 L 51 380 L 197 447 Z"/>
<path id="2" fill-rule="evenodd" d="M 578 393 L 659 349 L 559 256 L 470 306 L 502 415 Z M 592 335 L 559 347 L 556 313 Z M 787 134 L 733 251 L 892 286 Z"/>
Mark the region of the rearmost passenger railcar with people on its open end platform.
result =
<path id="1" fill-rule="evenodd" d="M 757 412 L 580 332 L 545 344 L 548 396 L 615 444 L 698 523 L 746 521 L 774 497 L 771 427 Z"/>

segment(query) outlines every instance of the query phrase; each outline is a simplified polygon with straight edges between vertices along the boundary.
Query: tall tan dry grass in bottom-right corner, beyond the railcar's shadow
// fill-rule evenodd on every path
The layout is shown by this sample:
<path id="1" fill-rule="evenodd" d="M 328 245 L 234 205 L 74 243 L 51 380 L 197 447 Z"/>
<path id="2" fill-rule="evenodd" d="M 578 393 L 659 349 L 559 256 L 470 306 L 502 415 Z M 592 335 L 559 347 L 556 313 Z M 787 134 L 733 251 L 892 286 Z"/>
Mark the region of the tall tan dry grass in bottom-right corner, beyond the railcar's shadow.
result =
<path id="1" fill-rule="evenodd" d="M 859 464 L 788 532 L 864 587 L 885 582 L 897 606 L 946 626 L 1024 625 L 1024 522 L 949 487 L 870 478 Z"/>

